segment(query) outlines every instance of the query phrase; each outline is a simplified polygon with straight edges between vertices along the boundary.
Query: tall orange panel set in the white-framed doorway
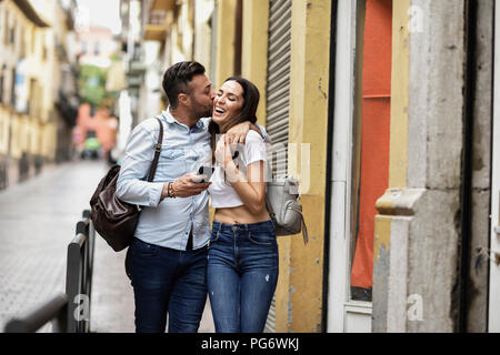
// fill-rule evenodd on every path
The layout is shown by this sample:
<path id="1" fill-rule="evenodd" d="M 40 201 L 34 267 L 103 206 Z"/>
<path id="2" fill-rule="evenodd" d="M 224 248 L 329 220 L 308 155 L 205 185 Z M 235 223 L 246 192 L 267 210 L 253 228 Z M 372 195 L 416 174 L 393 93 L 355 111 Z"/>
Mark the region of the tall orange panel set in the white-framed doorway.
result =
<path id="1" fill-rule="evenodd" d="M 371 294 L 376 202 L 389 185 L 392 0 L 367 0 L 362 73 L 359 225 L 351 286 Z M 371 297 L 368 297 L 371 301 Z"/>

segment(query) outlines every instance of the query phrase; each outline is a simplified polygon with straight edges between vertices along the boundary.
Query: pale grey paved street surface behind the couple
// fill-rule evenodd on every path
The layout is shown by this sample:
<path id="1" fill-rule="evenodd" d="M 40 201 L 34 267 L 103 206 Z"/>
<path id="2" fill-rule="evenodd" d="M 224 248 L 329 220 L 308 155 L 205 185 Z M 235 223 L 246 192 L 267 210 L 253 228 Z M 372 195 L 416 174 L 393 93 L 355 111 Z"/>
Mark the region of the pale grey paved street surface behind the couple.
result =
<path id="1" fill-rule="evenodd" d="M 0 192 L 1 331 L 12 316 L 64 291 L 68 243 L 106 170 L 102 162 L 66 163 Z M 123 271 L 126 252 L 113 252 L 97 235 L 94 255 L 91 332 L 133 332 L 133 292 Z M 50 331 L 47 325 L 39 332 Z M 213 332 L 208 303 L 200 332 Z"/>

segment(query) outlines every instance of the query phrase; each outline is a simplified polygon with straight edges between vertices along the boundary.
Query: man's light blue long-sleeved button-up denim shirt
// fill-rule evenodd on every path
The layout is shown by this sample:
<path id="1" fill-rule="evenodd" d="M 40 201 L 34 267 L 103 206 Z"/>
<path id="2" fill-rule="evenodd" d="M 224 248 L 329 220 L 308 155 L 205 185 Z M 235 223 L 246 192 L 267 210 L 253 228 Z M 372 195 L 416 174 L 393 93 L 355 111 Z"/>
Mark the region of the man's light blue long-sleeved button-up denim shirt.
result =
<path id="1" fill-rule="evenodd" d="M 193 248 L 200 248 L 210 239 L 208 192 L 186 199 L 160 199 L 166 182 L 197 173 L 201 165 L 211 165 L 210 119 L 201 119 L 190 129 L 172 116 L 170 108 L 158 118 L 163 123 L 163 142 L 153 181 L 147 182 L 160 131 L 154 118 L 140 123 L 129 136 L 117 195 L 122 201 L 143 206 L 136 229 L 137 239 L 184 251 L 192 227 Z M 266 130 L 259 128 L 266 135 Z"/>

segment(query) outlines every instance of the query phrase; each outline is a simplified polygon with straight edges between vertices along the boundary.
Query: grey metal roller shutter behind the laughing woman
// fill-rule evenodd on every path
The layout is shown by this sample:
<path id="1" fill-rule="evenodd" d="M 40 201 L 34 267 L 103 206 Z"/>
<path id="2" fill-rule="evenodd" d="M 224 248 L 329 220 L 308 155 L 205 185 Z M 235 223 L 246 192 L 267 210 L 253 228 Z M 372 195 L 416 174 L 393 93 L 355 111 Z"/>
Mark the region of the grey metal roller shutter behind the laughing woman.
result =
<path id="1" fill-rule="evenodd" d="M 274 179 L 287 176 L 290 49 L 291 0 L 270 0 L 266 129 L 272 139 L 269 159 L 272 159 Z M 276 297 L 272 298 L 264 332 L 276 332 Z"/>

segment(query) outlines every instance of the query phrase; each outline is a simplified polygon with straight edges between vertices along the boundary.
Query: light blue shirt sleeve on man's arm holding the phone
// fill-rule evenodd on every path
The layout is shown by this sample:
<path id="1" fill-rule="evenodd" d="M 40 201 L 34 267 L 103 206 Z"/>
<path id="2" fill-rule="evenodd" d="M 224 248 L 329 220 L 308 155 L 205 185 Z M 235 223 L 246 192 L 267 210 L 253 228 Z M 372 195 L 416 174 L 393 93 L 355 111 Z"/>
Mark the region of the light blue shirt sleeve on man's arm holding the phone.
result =
<path id="1" fill-rule="evenodd" d="M 117 196 L 124 202 L 157 207 L 163 183 L 148 182 L 157 139 L 143 126 L 137 126 L 127 142 L 126 154 L 117 181 Z"/>

